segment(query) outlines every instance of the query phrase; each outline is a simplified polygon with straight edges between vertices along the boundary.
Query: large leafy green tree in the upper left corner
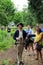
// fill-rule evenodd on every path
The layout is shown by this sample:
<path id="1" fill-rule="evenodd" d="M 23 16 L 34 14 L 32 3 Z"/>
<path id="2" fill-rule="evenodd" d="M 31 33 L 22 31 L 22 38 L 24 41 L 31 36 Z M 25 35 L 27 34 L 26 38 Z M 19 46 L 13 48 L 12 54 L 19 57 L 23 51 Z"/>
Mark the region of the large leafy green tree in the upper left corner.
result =
<path id="1" fill-rule="evenodd" d="M 11 0 L 0 0 L 0 24 L 6 26 L 13 21 L 15 10 Z"/>

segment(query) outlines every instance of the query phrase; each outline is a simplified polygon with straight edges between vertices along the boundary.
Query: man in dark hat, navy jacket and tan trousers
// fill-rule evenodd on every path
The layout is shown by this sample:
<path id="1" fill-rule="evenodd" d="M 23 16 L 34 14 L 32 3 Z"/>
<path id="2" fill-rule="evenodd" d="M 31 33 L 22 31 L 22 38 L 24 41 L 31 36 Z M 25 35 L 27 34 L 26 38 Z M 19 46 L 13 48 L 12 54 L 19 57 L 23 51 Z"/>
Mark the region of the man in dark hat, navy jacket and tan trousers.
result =
<path id="1" fill-rule="evenodd" d="M 24 40 L 27 36 L 27 33 L 23 30 L 23 24 L 19 23 L 17 25 L 18 30 L 14 33 L 13 38 L 16 40 L 17 48 L 18 48 L 18 65 L 20 65 L 22 62 L 22 53 L 24 49 Z"/>

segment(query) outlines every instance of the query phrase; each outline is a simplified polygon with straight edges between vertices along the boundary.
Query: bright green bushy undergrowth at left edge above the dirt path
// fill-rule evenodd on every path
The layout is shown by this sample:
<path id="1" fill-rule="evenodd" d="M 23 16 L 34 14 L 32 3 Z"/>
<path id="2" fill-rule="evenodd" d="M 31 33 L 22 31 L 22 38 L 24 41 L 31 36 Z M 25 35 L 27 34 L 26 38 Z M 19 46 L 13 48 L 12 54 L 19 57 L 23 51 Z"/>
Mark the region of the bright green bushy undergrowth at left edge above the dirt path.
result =
<path id="1" fill-rule="evenodd" d="M 5 50 L 14 44 L 12 36 L 6 30 L 0 30 L 0 50 Z"/>

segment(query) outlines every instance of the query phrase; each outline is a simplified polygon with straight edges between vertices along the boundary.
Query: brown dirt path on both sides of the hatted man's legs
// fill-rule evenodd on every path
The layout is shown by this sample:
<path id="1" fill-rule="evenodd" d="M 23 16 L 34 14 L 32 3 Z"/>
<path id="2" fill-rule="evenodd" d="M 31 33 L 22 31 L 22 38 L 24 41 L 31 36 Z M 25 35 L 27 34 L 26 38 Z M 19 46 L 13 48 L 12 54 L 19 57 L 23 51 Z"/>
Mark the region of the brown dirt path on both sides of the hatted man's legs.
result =
<path id="1" fill-rule="evenodd" d="M 10 59 L 11 65 L 13 65 L 14 61 L 16 60 L 16 57 L 17 57 L 17 49 L 15 46 L 12 46 L 10 49 L 5 50 L 3 53 L 0 52 L 0 61 L 4 59 Z M 35 57 L 36 56 L 28 56 L 27 52 L 24 50 L 23 60 L 25 65 L 43 65 L 40 63 L 40 61 L 36 61 Z"/>

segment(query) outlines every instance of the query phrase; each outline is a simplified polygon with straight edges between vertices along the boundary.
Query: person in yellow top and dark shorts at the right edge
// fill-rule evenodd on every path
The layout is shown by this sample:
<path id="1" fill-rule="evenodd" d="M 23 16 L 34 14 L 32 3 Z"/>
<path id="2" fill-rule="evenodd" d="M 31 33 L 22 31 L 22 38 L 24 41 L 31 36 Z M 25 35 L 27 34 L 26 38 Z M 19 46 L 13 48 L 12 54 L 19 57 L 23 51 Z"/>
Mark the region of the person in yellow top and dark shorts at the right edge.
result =
<path id="1" fill-rule="evenodd" d="M 36 60 L 39 60 L 39 56 L 40 56 L 40 59 L 42 61 L 42 41 L 43 41 L 43 34 L 41 33 L 41 29 L 38 27 L 36 29 L 37 31 L 37 35 L 35 37 L 35 40 L 34 40 L 34 43 L 37 43 L 36 44 L 36 51 L 37 51 L 37 58 Z"/>

